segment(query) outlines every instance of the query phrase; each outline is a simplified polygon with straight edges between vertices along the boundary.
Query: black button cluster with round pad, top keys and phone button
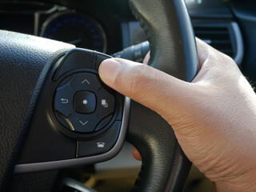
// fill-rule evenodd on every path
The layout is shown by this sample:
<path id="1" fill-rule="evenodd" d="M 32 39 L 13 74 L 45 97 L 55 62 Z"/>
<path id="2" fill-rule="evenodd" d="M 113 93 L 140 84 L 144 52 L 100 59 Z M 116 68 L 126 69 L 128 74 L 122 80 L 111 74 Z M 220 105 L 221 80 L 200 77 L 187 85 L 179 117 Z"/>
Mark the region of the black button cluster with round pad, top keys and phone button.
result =
<path id="1" fill-rule="evenodd" d="M 57 130 L 76 140 L 76 158 L 106 153 L 121 131 L 123 97 L 98 76 L 98 67 L 107 58 L 74 49 L 56 63 L 51 118 Z"/>

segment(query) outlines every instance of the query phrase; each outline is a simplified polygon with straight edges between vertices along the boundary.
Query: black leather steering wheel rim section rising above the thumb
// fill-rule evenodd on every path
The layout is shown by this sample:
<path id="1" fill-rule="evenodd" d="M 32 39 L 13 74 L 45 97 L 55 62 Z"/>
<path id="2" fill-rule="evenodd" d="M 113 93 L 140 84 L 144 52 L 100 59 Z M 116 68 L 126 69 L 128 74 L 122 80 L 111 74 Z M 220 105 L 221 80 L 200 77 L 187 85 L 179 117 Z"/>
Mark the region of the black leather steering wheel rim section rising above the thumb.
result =
<path id="1" fill-rule="evenodd" d="M 191 82 L 198 56 L 183 0 L 130 0 L 130 8 L 150 42 L 149 65 Z"/>

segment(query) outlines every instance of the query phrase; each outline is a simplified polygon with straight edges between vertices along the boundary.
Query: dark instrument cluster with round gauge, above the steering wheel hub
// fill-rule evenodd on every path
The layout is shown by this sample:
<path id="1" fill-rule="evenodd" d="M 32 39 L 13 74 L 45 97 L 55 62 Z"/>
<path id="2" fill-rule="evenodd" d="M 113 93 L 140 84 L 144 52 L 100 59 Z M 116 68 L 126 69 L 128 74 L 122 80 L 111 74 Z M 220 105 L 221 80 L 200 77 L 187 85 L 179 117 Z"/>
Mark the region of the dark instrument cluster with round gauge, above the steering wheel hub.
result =
<path id="1" fill-rule="evenodd" d="M 122 49 L 122 32 L 116 15 L 103 12 L 47 2 L 0 2 L 0 29 L 110 54 Z"/>

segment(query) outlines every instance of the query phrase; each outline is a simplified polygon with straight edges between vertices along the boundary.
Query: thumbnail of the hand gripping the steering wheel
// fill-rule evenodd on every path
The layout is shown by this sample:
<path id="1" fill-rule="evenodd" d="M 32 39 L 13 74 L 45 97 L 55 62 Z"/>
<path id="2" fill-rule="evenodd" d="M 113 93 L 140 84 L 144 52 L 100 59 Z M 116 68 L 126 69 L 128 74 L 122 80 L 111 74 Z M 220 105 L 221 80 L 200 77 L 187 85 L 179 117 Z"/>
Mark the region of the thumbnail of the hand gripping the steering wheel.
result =
<path id="1" fill-rule="evenodd" d="M 99 66 L 98 74 L 106 84 L 112 84 L 120 70 L 121 63 L 114 58 L 106 59 Z"/>

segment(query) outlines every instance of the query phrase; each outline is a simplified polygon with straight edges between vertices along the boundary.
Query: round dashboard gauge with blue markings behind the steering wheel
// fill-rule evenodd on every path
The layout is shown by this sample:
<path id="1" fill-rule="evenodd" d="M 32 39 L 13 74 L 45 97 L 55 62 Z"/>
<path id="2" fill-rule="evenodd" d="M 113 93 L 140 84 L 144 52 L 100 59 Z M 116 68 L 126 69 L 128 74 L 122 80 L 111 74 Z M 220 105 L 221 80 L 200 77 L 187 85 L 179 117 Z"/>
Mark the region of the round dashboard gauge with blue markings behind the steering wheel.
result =
<path id="1" fill-rule="evenodd" d="M 106 52 L 106 34 L 102 26 L 83 14 L 54 14 L 42 25 L 41 36 L 89 50 Z"/>

